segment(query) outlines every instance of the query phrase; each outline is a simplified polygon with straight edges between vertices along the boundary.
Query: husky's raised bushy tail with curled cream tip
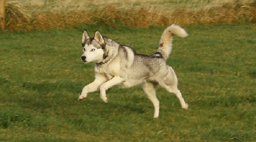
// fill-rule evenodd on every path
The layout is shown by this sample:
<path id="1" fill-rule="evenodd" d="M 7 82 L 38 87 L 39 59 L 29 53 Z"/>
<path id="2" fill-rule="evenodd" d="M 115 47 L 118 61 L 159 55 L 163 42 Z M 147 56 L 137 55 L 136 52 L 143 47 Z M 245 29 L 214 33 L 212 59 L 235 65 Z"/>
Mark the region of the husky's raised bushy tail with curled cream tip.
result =
<path id="1" fill-rule="evenodd" d="M 186 36 L 188 36 L 188 34 L 184 29 L 180 28 L 180 26 L 177 26 L 175 24 L 172 24 L 172 26 L 169 26 L 163 31 L 163 34 L 161 36 L 159 46 L 157 49 L 157 53 L 162 55 L 165 61 L 168 59 L 169 55 L 172 52 L 173 35 L 177 35 L 182 38 L 185 38 Z"/>

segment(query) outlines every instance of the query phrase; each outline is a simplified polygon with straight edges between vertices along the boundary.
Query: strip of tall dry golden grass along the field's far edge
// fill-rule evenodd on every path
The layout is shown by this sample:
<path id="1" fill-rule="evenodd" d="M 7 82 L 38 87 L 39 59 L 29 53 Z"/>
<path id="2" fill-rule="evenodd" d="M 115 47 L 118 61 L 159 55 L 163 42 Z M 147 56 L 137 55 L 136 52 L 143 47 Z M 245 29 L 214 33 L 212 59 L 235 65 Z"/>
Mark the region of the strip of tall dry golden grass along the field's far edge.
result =
<path id="1" fill-rule="evenodd" d="M 256 23 L 253 0 L 7 0 L 6 5 L 6 28 L 11 30 L 62 29 L 82 23 L 113 27 Z"/>

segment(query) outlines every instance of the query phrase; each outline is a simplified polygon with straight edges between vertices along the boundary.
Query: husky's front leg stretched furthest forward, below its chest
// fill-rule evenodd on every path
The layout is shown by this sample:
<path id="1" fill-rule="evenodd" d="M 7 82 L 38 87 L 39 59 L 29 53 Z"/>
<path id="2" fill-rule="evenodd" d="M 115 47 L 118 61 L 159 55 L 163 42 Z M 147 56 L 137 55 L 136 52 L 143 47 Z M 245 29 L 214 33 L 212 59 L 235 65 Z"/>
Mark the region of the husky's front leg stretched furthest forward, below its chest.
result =
<path id="1" fill-rule="evenodd" d="M 107 81 L 107 78 L 104 75 L 95 73 L 95 80 L 92 83 L 84 86 L 78 100 L 83 101 L 86 98 L 87 93 L 99 91 L 100 85 L 105 81 Z"/>

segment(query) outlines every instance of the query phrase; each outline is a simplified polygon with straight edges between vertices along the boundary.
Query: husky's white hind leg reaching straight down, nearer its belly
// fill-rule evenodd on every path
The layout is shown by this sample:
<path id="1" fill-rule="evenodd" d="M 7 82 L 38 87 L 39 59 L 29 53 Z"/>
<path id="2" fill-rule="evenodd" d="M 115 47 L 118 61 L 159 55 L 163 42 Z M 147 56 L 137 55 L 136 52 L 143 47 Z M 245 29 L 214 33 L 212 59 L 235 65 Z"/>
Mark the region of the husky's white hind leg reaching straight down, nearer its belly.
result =
<path id="1" fill-rule="evenodd" d="M 157 118 L 159 116 L 159 101 L 156 96 L 157 84 L 153 84 L 150 82 L 143 82 L 142 87 L 143 87 L 143 91 L 145 92 L 145 96 L 154 105 L 154 118 Z"/>

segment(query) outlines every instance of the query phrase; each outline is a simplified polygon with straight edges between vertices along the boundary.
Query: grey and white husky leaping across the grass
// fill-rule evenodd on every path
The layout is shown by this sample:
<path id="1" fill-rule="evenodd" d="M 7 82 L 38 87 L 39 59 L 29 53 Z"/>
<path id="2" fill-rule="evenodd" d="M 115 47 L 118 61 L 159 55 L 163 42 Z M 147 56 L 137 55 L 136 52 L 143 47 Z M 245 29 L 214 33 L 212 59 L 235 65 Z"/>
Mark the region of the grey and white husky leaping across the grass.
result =
<path id="1" fill-rule="evenodd" d="M 87 93 L 100 91 L 101 99 L 107 103 L 106 90 L 114 85 L 132 87 L 142 84 L 146 97 L 154 104 L 154 118 L 159 116 L 159 101 L 156 96 L 158 84 L 170 93 L 175 93 L 181 107 L 188 108 L 177 88 L 177 77 L 166 60 L 172 51 L 172 37 L 186 37 L 188 34 L 180 26 L 172 25 L 163 31 L 157 52 L 154 55 L 137 54 L 129 46 L 102 36 L 99 31 L 90 38 L 84 30 L 82 36 L 84 63 L 95 62 L 95 80 L 86 85 L 78 100 L 86 98 Z"/>

